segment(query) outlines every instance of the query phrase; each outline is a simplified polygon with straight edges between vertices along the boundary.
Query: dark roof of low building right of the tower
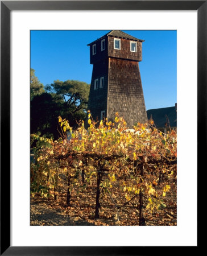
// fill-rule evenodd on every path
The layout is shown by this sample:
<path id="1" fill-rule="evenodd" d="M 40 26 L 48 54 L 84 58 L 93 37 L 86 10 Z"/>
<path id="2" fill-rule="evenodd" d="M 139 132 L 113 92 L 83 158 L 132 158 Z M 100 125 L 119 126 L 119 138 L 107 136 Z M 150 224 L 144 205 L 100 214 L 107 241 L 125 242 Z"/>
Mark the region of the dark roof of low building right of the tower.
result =
<path id="1" fill-rule="evenodd" d="M 177 127 L 177 108 L 172 106 L 169 108 L 148 109 L 147 118 L 152 118 L 157 128 L 166 127 L 166 123 L 167 127 Z"/>

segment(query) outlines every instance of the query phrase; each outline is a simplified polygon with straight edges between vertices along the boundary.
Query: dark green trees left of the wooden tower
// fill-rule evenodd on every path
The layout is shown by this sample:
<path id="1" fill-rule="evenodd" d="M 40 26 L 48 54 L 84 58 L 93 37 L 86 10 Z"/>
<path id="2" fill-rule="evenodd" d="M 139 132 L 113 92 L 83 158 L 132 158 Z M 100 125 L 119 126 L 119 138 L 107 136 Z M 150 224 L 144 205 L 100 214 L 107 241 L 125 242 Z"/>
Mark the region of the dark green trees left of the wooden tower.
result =
<path id="1" fill-rule="evenodd" d="M 31 69 L 31 134 L 59 138 L 59 115 L 77 128 L 78 121 L 86 118 L 89 88 L 89 84 L 81 81 L 56 80 L 44 90 L 34 69 Z"/>

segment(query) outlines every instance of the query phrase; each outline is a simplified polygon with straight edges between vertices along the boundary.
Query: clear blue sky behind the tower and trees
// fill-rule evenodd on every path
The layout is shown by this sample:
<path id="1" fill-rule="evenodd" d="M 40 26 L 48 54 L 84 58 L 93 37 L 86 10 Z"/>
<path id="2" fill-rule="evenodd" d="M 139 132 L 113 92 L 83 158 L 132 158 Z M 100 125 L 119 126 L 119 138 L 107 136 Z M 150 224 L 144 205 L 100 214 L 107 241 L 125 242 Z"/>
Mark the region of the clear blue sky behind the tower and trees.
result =
<path id="1" fill-rule="evenodd" d="M 139 63 L 146 109 L 166 108 L 177 102 L 177 34 L 168 30 L 122 30 L 142 43 Z M 43 85 L 55 80 L 90 84 L 87 44 L 109 30 L 31 31 L 31 68 Z"/>

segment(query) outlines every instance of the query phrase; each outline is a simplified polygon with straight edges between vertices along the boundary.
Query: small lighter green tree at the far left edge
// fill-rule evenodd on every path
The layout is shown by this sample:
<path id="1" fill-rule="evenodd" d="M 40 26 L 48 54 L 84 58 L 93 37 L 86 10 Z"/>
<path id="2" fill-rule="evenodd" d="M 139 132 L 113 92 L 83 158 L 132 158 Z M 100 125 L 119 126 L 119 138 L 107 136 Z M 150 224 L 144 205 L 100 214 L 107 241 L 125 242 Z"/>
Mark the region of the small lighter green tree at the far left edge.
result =
<path id="1" fill-rule="evenodd" d="M 35 76 L 35 69 L 30 69 L 30 100 L 32 100 L 36 95 L 44 93 L 44 85 L 41 84 L 38 77 Z"/>

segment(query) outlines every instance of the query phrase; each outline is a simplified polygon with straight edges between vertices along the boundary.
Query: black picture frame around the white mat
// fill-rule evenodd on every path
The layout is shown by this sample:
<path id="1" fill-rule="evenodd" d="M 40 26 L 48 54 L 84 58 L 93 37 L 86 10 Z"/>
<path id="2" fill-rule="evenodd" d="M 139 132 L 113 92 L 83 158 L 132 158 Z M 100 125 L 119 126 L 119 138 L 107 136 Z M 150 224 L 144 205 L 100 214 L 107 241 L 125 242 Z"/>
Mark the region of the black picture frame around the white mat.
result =
<path id="1" fill-rule="evenodd" d="M 197 10 L 197 174 L 206 155 L 207 1 L 1 1 L 1 255 L 148 255 L 153 246 L 10 246 L 10 12 L 12 10 Z M 192 122 L 192 121 L 189 121 Z M 188 126 L 188 124 L 187 124 Z M 5 171 L 6 170 L 6 171 Z M 204 171 L 204 170 L 203 170 Z M 195 206 L 196 207 L 196 206 Z M 197 233 L 198 234 L 198 233 Z M 191 247 L 191 252 L 198 250 Z M 185 246 L 179 246 L 187 252 Z M 160 251 L 161 250 L 161 251 Z"/>

